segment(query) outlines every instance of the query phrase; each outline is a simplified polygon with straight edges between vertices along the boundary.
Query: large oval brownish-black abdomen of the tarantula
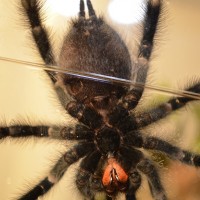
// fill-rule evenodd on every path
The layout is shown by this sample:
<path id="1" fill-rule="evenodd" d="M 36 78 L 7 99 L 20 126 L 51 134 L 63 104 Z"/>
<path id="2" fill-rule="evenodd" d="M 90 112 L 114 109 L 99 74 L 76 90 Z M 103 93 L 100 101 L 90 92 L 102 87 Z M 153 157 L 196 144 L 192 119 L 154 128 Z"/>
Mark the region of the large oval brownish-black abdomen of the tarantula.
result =
<path id="1" fill-rule="evenodd" d="M 128 80 L 132 72 L 131 57 L 124 41 L 99 17 L 78 18 L 73 21 L 65 37 L 58 64 L 77 72 Z M 93 102 L 95 106 L 109 104 L 127 91 L 127 86 L 80 80 L 72 75 L 58 73 L 57 79 L 78 102 Z"/>

